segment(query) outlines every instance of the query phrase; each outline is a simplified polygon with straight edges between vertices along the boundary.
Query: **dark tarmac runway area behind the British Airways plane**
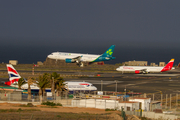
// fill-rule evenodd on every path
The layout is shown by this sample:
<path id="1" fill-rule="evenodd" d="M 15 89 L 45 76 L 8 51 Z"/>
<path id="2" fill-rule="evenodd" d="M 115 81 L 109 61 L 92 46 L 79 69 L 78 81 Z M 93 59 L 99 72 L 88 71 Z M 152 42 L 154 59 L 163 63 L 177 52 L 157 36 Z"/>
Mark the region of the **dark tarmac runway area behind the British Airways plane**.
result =
<path id="1" fill-rule="evenodd" d="M 18 71 L 32 72 L 32 71 Z M 39 71 L 36 71 L 39 72 Z M 44 72 L 44 71 L 43 71 Z M 52 73 L 52 71 L 51 71 Z M 92 83 L 100 91 L 115 91 L 117 81 L 118 92 L 124 92 L 124 89 L 139 93 L 180 93 L 180 70 L 176 72 L 158 73 L 158 74 L 121 74 L 121 73 L 100 73 L 100 72 L 58 72 L 59 74 L 71 75 L 89 75 L 90 77 L 80 77 L 77 79 L 64 78 L 65 81 L 86 81 Z M 100 77 L 96 75 L 100 74 Z M 8 75 L 7 75 L 8 76 Z M 95 77 L 93 77 L 95 76 Z M 23 77 L 23 75 L 22 75 Z M 0 78 L 0 86 L 8 78 Z M 101 88 L 102 84 L 102 88 Z"/>

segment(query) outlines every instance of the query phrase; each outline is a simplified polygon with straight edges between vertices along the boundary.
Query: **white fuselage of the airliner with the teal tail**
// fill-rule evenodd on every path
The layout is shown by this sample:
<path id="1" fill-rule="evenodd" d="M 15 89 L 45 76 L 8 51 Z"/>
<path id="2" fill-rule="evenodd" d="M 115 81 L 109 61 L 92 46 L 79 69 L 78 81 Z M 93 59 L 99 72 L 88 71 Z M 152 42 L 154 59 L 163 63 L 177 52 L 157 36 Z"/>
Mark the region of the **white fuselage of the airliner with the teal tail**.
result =
<path id="1" fill-rule="evenodd" d="M 94 54 L 81 54 L 81 53 L 66 53 L 66 52 L 53 52 L 50 55 L 48 55 L 48 58 L 50 59 L 56 59 L 56 60 L 65 60 L 65 59 L 73 59 L 76 57 L 81 56 L 80 61 L 82 62 L 92 62 L 96 58 L 98 58 L 100 55 L 94 55 Z"/>

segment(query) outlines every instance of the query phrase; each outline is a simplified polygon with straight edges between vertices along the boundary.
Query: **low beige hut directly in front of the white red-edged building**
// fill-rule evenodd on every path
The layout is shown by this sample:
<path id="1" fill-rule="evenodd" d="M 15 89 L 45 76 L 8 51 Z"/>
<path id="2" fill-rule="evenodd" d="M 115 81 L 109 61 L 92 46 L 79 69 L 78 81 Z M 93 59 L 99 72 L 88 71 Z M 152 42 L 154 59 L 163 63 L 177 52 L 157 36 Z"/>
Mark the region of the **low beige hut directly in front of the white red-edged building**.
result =
<path id="1" fill-rule="evenodd" d="M 118 104 L 118 107 L 120 109 L 124 108 L 125 111 L 134 111 L 134 110 L 139 110 L 140 107 L 139 105 L 140 105 L 139 102 L 123 101 Z"/>

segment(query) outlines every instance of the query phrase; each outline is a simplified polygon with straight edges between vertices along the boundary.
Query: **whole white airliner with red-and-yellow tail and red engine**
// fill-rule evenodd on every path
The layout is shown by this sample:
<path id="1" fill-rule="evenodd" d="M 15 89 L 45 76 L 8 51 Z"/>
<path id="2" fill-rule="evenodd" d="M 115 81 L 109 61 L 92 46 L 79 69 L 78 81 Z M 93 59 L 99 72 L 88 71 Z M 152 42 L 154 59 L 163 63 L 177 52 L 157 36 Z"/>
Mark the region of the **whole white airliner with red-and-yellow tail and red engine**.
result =
<path id="1" fill-rule="evenodd" d="M 136 74 L 141 73 L 150 73 L 150 72 L 164 72 L 171 69 L 173 67 L 174 59 L 171 59 L 169 63 L 165 67 L 153 67 L 153 66 L 120 66 L 116 70 L 117 71 L 128 71 L 128 72 L 135 72 Z"/>

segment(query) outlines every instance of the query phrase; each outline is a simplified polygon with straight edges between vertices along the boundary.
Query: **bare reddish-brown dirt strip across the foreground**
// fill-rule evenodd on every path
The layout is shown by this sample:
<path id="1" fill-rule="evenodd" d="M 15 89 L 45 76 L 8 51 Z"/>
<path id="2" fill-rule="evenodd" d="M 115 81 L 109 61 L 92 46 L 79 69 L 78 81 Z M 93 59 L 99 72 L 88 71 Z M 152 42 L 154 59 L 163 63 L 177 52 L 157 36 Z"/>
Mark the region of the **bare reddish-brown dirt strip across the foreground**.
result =
<path id="1" fill-rule="evenodd" d="M 77 108 L 77 107 L 49 107 L 46 105 L 36 105 L 34 107 L 22 107 L 22 104 L 11 104 L 11 103 L 0 103 L 0 109 L 37 109 L 43 113 L 51 112 L 51 113 L 88 113 L 88 114 L 109 114 L 110 117 L 116 118 L 116 120 L 123 120 L 120 116 L 120 111 L 105 111 L 103 109 L 95 109 L 95 108 Z M 135 116 L 128 116 L 131 120 L 138 120 Z"/>

